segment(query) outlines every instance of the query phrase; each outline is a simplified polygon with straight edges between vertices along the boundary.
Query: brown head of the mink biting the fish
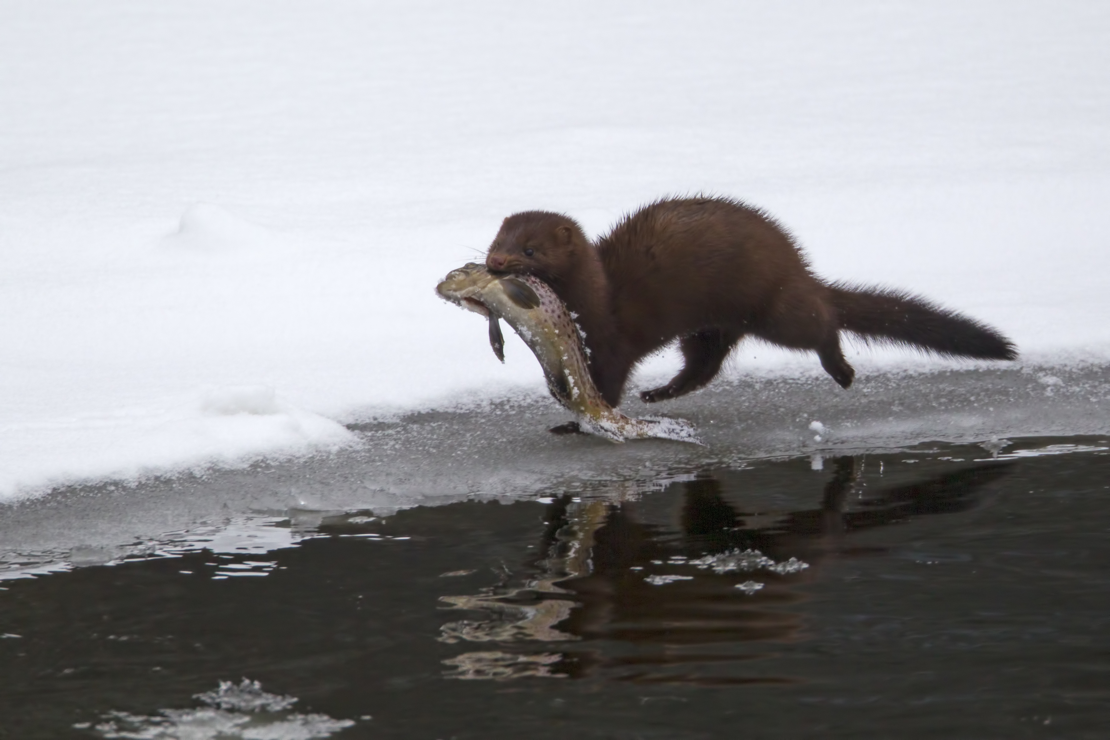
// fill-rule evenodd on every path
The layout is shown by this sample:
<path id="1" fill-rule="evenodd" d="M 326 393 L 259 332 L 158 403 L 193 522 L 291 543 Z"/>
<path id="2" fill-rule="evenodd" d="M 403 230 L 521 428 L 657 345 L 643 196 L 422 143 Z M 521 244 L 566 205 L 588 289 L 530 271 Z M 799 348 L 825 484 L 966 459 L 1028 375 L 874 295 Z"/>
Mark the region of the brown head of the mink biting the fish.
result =
<path id="1" fill-rule="evenodd" d="M 586 235 L 574 219 L 546 211 L 525 211 L 501 224 L 486 254 L 486 267 L 559 282 L 574 272 L 575 262 L 586 247 Z"/>

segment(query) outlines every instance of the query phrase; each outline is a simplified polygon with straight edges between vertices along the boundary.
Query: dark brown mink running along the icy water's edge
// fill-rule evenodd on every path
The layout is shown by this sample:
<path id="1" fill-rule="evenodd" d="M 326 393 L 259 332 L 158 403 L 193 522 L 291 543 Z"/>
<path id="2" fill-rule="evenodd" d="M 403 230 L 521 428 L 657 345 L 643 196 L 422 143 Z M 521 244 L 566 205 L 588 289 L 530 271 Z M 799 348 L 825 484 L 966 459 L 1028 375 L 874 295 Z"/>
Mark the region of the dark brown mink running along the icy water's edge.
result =
<path id="1" fill-rule="evenodd" d="M 924 298 L 826 283 L 778 224 L 726 199 L 652 203 L 596 243 L 565 215 L 517 213 L 502 224 L 486 266 L 536 275 L 577 314 L 594 382 L 613 406 L 633 366 L 675 338 L 685 366 L 644 401 L 702 387 L 747 334 L 816 351 L 846 388 L 855 369 L 840 349 L 841 330 L 940 355 L 1017 356 L 995 330 Z"/>

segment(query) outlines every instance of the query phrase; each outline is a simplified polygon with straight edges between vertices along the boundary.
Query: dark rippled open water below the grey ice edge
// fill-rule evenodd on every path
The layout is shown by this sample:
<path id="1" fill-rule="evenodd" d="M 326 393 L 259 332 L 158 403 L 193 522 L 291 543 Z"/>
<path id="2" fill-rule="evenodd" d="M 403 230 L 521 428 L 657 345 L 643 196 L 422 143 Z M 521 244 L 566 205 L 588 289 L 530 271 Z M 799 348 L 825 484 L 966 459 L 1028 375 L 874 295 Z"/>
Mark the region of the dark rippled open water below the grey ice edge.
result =
<path id="1" fill-rule="evenodd" d="M 1107 446 L 294 513 L 3 581 L 0 736 L 1104 738 Z"/>

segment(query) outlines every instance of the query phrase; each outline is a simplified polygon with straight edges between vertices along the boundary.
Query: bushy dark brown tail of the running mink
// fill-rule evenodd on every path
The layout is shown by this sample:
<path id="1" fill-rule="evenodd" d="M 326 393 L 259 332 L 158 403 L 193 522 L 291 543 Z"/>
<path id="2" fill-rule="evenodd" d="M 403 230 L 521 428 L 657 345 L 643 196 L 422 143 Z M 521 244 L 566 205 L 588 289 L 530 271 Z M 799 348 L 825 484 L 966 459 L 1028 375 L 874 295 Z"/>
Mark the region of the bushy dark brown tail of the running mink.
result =
<path id="1" fill-rule="evenodd" d="M 997 331 L 955 311 L 889 288 L 829 285 L 840 328 L 865 342 L 911 345 L 939 355 L 1016 359 L 1018 348 Z"/>

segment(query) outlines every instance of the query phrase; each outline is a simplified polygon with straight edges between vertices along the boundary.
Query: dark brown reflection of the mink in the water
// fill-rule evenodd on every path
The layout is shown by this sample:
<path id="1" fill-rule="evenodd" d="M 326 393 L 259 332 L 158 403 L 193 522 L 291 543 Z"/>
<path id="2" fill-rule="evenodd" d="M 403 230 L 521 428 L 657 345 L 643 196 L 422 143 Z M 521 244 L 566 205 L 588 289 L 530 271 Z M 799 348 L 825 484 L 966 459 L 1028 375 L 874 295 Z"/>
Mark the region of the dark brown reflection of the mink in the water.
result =
<path id="1" fill-rule="evenodd" d="M 729 498 L 743 500 L 743 496 L 726 498 L 744 489 L 729 491 L 720 478 L 713 476 L 675 484 L 662 494 L 668 499 L 682 495 L 680 520 L 672 526 L 644 523 L 634 503 L 610 506 L 604 523 L 588 531 L 593 546 L 579 556 L 588 558 L 588 570 L 556 581 L 559 589 L 573 595 L 575 602 L 556 628 L 586 640 L 579 647 L 565 649 L 568 660 L 559 665 L 558 671 L 574 677 L 605 671 L 618 680 L 648 683 L 788 682 L 789 678 L 763 671 L 758 676 L 740 675 L 748 672 L 740 669 L 741 661 L 758 653 L 736 648 L 745 642 L 788 641 L 803 636 L 804 614 L 796 606 L 805 596 L 797 585 L 819 577 L 821 566 L 831 559 L 887 551 L 874 539 L 870 545 L 852 541 L 848 538 L 851 534 L 921 516 L 968 511 L 981 504 L 992 484 L 1013 469 L 1012 463 L 988 463 L 892 487 L 875 486 L 878 481 L 872 479 L 867 494 L 860 495 L 864 489 L 857 486 L 862 462 L 862 457 L 837 457 L 819 504 L 774 511 L 760 524 L 751 520 L 757 513 L 737 510 L 729 503 Z M 549 505 L 548 530 L 542 547 L 548 556 L 573 550 L 568 537 L 568 530 L 575 527 L 574 518 L 568 516 L 572 506 L 588 504 L 572 504 L 566 496 Z M 579 529 L 573 538 L 581 544 L 587 534 Z M 727 559 L 729 554 L 750 550 L 757 550 L 753 558 L 768 556 L 784 564 L 788 557 L 797 557 L 809 567 L 804 575 L 764 566 L 727 572 L 690 567 L 695 558 L 715 555 Z M 557 562 L 542 562 L 549 566 L 552 561 Z M 663 588 L 645 579 L 660 571 L 693 578 Z M 741 595 L 736 587 L 747 579 L 758 580 L 766 588 Z M 624 647 L 606 649 L 604 642 L 597 641 L 616 641 Z M 726 667 L 730 662 L 735 670 Z"/>

